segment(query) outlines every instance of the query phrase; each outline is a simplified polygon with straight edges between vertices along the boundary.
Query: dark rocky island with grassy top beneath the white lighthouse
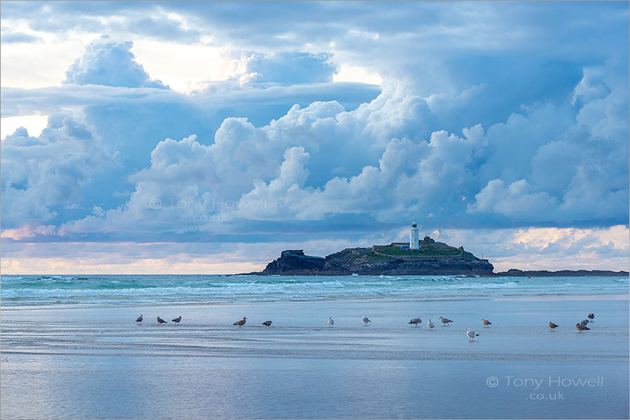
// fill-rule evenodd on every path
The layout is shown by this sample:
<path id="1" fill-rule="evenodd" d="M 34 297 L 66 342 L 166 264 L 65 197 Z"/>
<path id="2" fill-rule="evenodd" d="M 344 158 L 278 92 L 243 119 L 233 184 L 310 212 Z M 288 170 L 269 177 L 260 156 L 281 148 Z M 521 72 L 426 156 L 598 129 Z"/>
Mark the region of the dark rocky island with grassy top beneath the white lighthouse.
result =
<path id="1" fill-rule="evenodd" d="M 283 251 L 255 275 L 493 275 L 493 266 L 463 247 L 451 247 L 426 236 L 416 249 L 407 242 L 346 248 L 324 258 L 302 249 Z"/>

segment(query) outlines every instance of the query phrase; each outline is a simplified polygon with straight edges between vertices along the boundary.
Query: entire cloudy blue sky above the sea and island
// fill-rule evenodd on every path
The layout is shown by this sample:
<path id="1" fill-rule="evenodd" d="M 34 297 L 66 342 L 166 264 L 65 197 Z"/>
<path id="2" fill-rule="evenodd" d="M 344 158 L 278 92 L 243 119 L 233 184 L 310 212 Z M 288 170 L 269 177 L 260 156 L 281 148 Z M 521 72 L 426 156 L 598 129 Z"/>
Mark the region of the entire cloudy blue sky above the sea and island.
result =
<path id="1" fill-rule="evenodd" d="M 425 233 L 629 269 L 629 3 L 1 1 L 1 270 Z"/>

